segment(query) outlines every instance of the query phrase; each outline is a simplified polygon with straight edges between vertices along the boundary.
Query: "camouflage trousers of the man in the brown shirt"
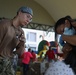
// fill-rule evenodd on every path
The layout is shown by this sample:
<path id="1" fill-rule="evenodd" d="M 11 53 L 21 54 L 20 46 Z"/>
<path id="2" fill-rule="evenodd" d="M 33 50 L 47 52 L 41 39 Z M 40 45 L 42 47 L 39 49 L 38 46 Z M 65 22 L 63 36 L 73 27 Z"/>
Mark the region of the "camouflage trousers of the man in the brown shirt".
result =
<path id="1" fill-rule="evenodd" d="M 0 58 L 0 75 L 15 75 L 9 58 Z"/>

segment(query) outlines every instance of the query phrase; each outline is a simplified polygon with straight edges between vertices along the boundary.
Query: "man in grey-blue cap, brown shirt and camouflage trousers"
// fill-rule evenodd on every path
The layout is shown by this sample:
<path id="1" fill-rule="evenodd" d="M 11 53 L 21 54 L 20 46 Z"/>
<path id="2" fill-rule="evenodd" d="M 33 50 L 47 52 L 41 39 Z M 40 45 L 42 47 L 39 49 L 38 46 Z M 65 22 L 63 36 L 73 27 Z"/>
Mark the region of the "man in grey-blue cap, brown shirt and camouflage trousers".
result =
<path id="1" fill-rule="evenodd" d="M 13 19 L 0 21 L 0 75 L 15 75 L 11 58 L 13 50 L 20 56 L 24 50 L 25 37 L 22 27 L 31 22 L 33 11 L 29 7 L 21 7 Z"/>

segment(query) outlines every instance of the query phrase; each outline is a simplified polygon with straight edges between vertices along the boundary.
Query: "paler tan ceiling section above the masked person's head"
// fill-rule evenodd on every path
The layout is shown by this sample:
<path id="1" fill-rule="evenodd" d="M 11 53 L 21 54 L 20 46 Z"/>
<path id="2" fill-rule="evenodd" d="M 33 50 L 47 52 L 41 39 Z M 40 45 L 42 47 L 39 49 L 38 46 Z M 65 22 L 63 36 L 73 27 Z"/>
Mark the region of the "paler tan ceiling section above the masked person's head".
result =
<path id="1" fill-rule="evenodd" d="M 76 18 L 76 0 L 34 0 L 40 4 L 56 22 L 59 18 L 70 15 Z"/>

